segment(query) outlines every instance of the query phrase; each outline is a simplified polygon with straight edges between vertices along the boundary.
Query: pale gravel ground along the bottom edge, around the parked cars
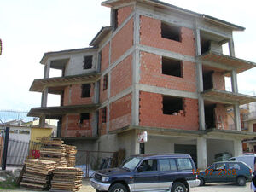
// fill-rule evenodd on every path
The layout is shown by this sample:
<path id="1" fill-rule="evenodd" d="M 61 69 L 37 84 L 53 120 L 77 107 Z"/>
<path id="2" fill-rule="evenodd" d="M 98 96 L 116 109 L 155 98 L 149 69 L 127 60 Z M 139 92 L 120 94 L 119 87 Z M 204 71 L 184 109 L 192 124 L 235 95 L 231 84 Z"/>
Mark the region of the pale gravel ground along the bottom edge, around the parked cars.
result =
<path id="1" fill-rule="evenodd" d="M 15 189 L 15 190 L 1 190 L 1 192 L 25 192 L 26 190 Z M 33 191 L 30 191 L 33 192 Z M 38 191 L 34 191 L 38 192 Z M 79 192 L 96 192 L 90 187 L 88 180 L 83 180 L 83 187 Z M 190 192 L 252 192 L 250 189 L 250 183 L 247 186 L 240 187 L 234 183 L 210 183 L 203 187 L 192 188 Z"/>

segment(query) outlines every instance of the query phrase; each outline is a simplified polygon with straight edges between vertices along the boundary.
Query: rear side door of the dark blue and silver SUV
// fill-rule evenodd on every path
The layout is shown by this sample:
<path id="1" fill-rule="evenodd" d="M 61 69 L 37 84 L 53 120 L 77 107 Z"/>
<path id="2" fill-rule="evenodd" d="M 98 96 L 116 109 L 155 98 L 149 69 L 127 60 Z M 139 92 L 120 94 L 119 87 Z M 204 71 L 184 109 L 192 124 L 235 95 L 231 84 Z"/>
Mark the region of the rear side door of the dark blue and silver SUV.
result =
<path id="1" fill-rule="evenodd" d="M 159 159 L 159 184 L 160 190 L 168 190 L 171 188 L 173 181 L 177 178 L 177 165 L 173 158 Z"/>

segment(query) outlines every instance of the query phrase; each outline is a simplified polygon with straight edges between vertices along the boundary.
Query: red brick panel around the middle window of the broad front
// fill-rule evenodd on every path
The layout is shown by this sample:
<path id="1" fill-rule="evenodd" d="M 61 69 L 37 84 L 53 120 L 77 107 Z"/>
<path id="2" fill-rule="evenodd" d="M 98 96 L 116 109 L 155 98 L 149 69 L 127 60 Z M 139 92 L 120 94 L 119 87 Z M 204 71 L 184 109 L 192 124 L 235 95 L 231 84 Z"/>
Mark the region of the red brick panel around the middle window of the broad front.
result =
<path id="1" fill-rule="evenodd" d="M 141 52 L 141 84 L 196 91 L 195 63 L 183 61 L 183 78 L 162 74 L 161 56 Z"/>

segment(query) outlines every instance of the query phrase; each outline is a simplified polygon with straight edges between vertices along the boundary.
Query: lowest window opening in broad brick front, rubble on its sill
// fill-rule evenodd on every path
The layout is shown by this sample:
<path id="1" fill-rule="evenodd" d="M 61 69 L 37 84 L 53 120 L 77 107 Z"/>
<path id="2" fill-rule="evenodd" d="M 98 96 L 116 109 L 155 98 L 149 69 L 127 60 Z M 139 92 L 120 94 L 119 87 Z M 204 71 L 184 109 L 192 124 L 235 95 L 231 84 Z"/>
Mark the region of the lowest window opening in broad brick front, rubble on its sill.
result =
<path id="1" fill-rule="evenodd" d="M 163 113 L 184 116 L 183 98 L 163 96 Z"/>

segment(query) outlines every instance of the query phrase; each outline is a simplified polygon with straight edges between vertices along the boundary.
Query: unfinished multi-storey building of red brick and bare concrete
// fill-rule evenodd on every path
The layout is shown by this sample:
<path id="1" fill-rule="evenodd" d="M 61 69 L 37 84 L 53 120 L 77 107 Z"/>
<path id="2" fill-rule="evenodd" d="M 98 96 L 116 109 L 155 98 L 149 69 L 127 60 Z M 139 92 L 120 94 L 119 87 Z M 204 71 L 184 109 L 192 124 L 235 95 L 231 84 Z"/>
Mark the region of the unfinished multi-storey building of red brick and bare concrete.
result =
<path id="1" fill-rule="evenodd" d="M 44 79 L 30 88 L 42 92 L 42 104 L 29 115 L 42 126 L 58 119 L 58 136 L 88 150 L 185 153 L 200 168 L 215 154 L 241 154 L 250 133 L 241 131 L 239 105 L 256 101 L 237 87 L 237 74 L 255 67 L 235 56 L 232 32 L 244 28 L 156 0 L 102 5 L 111 9 L 111 25 L 89 48 L 44 54 Z M 49 78 L 51 68 L 62 76 Z M 61 105 L 48 107 L 48 94 L 60 95 Z M 137 142 L 141 131 L 147 143 Z"/>

